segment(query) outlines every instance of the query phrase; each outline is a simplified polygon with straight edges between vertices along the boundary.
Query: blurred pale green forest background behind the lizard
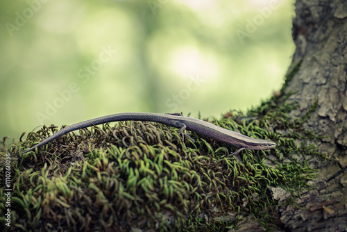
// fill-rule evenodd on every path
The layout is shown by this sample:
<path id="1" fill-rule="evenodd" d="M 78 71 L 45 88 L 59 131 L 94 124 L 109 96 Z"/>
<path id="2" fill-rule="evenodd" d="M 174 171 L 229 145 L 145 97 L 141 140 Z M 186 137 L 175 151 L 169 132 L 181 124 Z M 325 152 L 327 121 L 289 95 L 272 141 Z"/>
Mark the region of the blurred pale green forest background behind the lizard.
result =
<path id="1" fill-rule="evenodd" d="M 294 1 L 2 1 L 0 138 L 122 112 L 220 117 L 279 90 Z"/>

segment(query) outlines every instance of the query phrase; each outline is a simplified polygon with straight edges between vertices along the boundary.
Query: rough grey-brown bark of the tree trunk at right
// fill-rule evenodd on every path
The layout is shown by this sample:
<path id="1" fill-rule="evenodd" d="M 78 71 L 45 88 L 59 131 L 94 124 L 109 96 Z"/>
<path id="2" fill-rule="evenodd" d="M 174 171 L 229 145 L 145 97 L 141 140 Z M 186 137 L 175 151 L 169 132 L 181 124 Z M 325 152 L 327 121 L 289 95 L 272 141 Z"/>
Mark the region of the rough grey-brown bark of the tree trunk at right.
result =
<path id="1" fill-rule="evenodd" d="M 347 231 L 347 1 L 298 0 L 293 22 L 296 43 L 291 68 L 300 69 L 287 83 L 285 92 L 296 92 L 290 101 L 301 117 L 318 97 L 318 107 L 305 127 L 326 136 L 319 151 L 330 159 L 311 158 L 319 169 L 314 190 L 296 202 L 307 209 L 283 206 L 279 210 L 282 231 Z M 291 70 L 289 68 L 289 70 Z"/>

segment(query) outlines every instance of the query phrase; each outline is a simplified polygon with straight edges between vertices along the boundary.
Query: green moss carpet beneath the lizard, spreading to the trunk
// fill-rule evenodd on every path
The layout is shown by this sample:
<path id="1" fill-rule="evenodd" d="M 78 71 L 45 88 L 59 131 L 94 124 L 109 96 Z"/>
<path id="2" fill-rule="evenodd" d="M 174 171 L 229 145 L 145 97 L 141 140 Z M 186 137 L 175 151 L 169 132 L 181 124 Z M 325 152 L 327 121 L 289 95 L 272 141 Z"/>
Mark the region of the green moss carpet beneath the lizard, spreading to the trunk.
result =
<path id="1" fill-rule="evenodd" d="M 288 113 L 297 105 L 285 103 L 286 98 L 273 97 L 246 114 L 214 119 L 219 126 L 278 144 L 231 157 L 235 147 L 190 132 L 195 142 L 182 141 L 179 129 L 149 122 L 94 126 L 63 135 L 37 154 L 22 154 L 58 128 L 29 133 L 8 149 L 12 228 L 223 231 L 237 229 L 253 215 L 271 229 L 277 203 L 266 190 L 280 186 L 295 197 L 310 188 L 307 181 L 315 170 L 307 156 L 321 156 L 304 140 L 307 135 L 316 139 L 301 129 L 309 115 L 291 121 Z M 1 164 L 5 154 L 1 149 Z M 5 209 L 0 204 L 1 223 Z"/>

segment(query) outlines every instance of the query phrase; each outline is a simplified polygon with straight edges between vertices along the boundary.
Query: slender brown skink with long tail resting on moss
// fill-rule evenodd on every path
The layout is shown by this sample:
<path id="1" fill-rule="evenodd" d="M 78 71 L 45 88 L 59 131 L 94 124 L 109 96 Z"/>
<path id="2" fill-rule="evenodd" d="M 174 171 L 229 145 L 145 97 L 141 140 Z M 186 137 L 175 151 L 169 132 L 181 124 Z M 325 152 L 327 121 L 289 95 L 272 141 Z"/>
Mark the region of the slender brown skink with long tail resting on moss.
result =
<path id="1" fill-rule="evenodd" d="M 34 147 L 24 151 L 33 151 L 37 147 L 41 147 L 47 142 L 51 142 L 61 135 L 65 135 L 71 131 L 76 131 L 78 129 L 83 129 L 88 126 L 104 124 L 107 122 L 117 122 L 117 121 L 149 121 L 149 122 L 159 122 L 167 126 L 174 126 L 180 128 L 180 135 L 184 135 L 185 129 L 193 131 L 199 135 L 205 135 L 214 140 L 219 140 L 221 142 L 226 142 L 237 148 L 239 148 L 235 153 L 231 155 L 237 155 L 240 151 L 244 149 L 248 150 L 266 150 L 276 147 L 276 143 L 271 140 L 260 140 L 242 135 L 235 131 L 230 131 L 228 129 L 223 129 L 209 122 L 205 122 L 200 119 L 195 119 L 192 117 L 184 117 L 179 113 L 176 114 L 161 114 L 161 113 L 118 113 L 114 115 L 107 115 L 103 117 L 96 117 L 84 122 L 78 122 L 71 126 L 67 126 L 57 133 L 51 135 L 36 144 Z"/>

